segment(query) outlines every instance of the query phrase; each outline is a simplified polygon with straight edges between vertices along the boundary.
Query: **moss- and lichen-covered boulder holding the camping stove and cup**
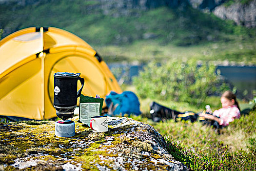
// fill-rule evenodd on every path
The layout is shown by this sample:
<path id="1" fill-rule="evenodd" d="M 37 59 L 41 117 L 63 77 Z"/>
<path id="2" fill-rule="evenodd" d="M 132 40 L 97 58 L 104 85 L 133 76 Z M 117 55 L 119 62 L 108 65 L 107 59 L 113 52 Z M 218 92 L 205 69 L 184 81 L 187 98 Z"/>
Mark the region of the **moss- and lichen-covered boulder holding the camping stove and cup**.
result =
<path id="1" fill-rule="evenodd" d="M 0 123 L 0 170 L 187 170 L 145 123 L 110 117 L 102 133 L 75 123 L 70 138 L 56 137 L 52 121 Z"/>

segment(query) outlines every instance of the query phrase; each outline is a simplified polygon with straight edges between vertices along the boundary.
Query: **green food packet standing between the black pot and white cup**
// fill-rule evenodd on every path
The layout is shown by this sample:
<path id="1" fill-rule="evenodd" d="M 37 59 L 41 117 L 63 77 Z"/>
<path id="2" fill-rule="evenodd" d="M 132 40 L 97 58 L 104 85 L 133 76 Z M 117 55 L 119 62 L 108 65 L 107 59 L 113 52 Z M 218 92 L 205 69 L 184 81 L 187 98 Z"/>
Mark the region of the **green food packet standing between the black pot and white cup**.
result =
<path id="1" fill-rule="evenodd" d="M 92 116 L 100 116 L 103 101 L 103 98 L 96 99 L 81 94 L 79 101 L 79 121 L 89 126 Z"/>

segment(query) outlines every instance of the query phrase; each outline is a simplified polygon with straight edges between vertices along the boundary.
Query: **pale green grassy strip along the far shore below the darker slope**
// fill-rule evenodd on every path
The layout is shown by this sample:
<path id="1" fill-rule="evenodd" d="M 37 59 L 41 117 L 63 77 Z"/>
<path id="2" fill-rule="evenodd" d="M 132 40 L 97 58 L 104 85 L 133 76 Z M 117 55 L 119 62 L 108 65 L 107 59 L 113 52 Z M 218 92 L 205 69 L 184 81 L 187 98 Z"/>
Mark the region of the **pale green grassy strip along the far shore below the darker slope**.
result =
<path id="1" fill-rule="evenodd" d="M 249 42 L 217 42 L 193 45 L 188 47 L 173 44 L 160 45 L 154 41 L 137 41 L 131 45 L 95 46 L 107 62 L 139 61 L 148 63 L 150 60 L 169 58 L 202 61 L 234 61 L 236 63 L 256 64 L 256 44 Z"/>

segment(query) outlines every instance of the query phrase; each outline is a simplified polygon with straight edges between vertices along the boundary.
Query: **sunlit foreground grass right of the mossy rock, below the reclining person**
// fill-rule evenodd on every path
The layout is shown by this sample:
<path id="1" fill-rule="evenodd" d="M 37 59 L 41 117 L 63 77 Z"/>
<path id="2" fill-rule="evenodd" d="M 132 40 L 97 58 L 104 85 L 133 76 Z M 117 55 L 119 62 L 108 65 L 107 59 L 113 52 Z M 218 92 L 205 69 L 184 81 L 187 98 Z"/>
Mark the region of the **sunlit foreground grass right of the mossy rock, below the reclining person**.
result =
<path id="1" fill-rule="evenodd" d="M 256 169 L 255 115 L 256 111 L 242 116 L 220 134 L 201 123 L 167 122 L 155 128 L 167 136 L 167 142 L 183 147 L 189 160 L 181 161 L 193 170 L 248 171 Z"/>

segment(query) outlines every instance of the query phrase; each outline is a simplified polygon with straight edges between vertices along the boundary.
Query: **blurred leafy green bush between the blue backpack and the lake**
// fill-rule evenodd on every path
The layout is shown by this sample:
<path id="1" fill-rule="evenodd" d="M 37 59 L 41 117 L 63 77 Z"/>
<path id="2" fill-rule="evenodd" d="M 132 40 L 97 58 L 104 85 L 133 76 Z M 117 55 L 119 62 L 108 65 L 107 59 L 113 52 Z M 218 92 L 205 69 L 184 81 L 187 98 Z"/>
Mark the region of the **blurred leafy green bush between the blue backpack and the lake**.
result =
<path id="1" fill-rule="evenodd" d="M 175 100 L 199 106 L 208 95 L 221 94 L 228 86 L 215 73 L 213 64 L 197 66 L 195 60 L 151 62 L 134 79 L 141 98 Z"/>

